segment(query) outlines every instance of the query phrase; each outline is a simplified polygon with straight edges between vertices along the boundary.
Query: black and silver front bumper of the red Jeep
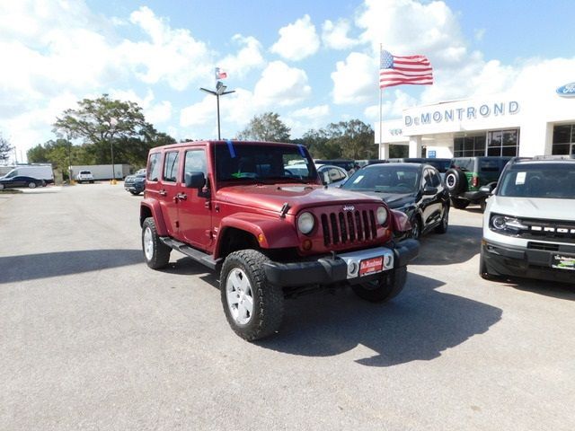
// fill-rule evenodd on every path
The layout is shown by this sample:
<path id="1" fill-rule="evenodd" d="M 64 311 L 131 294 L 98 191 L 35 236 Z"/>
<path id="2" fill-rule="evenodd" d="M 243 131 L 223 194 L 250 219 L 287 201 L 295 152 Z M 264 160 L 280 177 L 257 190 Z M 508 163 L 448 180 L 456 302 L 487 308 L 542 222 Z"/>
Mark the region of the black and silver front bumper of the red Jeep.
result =
<path id="1" fill-rule="evenodd" d="M 277 286 L 331 285 L 343 281 L 353 284 L 372 277 L 358 277 L 361 261 L 381 256 L 385 272 L 406 266 L 417 257 L 419 251 L 420 242 L 405 240 L 397 243 L 394 248 L 376 247 L 302 262 L 268 262 L 264 265 L 264 270 L 270 283 Z"/>

